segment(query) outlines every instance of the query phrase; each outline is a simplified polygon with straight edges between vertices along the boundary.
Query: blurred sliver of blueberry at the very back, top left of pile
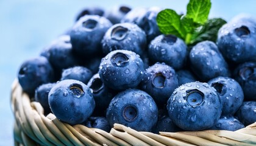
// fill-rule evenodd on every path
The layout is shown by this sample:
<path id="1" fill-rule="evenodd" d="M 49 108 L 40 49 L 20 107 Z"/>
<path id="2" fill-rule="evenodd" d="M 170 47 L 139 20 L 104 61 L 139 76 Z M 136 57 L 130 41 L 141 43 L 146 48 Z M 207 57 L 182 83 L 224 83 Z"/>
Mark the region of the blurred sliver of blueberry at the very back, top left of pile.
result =
<path id="1" fill-rule="evenodd" d="M 104 10 L 101 7 L 85 7 L 84 9 L 80 10 L 78 15 L 76 16 L 76 21 L 78 21 L 81 17 L 85 15 L 104 15 Z"/>

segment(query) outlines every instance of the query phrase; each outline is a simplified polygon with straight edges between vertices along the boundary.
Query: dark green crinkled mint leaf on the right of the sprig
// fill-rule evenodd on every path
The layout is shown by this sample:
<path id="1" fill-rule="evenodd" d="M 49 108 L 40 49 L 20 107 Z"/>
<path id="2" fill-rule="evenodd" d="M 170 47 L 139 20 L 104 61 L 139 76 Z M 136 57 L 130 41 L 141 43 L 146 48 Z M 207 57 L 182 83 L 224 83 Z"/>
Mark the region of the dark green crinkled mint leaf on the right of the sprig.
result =
<path id="1" fill-rule="evenodd" d="M 194 45 L 200 41 L 213 41 L 216 42 L 218 30 L 227 22 L 222 18 L 208 19 L 208 21 L 193 33 L 190 44 Z"/>

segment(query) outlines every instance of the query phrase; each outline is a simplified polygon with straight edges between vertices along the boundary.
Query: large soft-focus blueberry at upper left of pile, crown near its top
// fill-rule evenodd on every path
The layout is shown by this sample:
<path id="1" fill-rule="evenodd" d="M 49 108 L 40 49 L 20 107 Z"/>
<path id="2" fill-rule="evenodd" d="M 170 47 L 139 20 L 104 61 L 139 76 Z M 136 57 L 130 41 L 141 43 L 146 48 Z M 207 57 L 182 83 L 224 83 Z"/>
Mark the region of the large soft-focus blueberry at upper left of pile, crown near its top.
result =
<path id="1" fill-rule="evenodd" d="M 85 15 L 70 32 L 74 51 L 84 57 L 101 54 L 101 40 L 112 23 L 103 16 Z"/>

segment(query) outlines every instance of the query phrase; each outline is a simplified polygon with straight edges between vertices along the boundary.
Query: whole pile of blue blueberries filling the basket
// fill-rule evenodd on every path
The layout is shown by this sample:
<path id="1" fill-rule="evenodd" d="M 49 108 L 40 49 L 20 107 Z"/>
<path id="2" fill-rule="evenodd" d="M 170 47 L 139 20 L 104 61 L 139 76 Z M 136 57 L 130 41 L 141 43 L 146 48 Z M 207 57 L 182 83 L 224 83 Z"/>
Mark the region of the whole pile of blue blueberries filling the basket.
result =
<path id="1" fill-rule="evenodd" d="M 158 7 L 90 7 L 18 72 L 23 91 L 70 125 L 110 131 L 235 131 L 256 122 L 256 19 L 188 46 L 157 26 Z"/>

